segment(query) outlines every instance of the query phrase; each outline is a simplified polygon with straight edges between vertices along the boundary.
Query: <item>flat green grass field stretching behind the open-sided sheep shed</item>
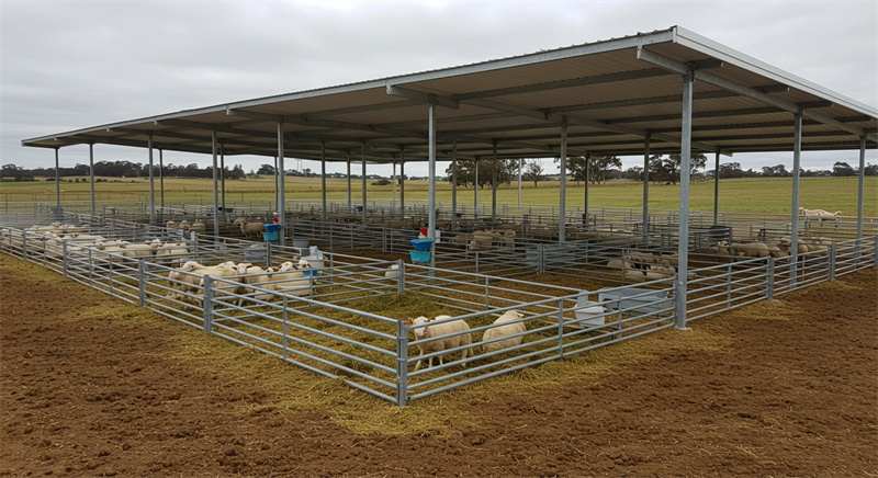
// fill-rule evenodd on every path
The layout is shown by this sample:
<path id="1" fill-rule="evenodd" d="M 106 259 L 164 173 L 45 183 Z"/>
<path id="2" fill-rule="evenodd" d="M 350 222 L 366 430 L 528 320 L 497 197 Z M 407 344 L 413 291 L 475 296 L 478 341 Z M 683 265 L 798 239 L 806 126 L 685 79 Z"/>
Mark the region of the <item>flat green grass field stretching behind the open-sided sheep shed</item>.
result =
<path id="1" fill-rule="evenodd" d="M 75 179 L 74 179 L 75 180 Z M 63 182 L 61 205 L 67 202 L 90 201 L 90 185 L 86 179 L 80 182 Z M 845 216 L 855 216 L 857 212 L 857 178 L 804 178 L 800 181 L 799 205 L 809 209 L 841 210 Z M 320 201 L 322 182 L 318 178 L 286 178 L 288 201 Z M 391 200 L 393 185 L 373 185 L 367 182 L 367 201 Z M 156 201 L 158 202 L 158 179 L 156 179 Z M 559 204 L 560 183 L 553 181 L 524 183 L 521 192 L 522 205 L 556 206 Z M 347 180 L 330 179 L 326 182 L 329 201 L 347 201 Z M 362 202 L 362 182 L 351 181 L 351 196 L 356 204 Z M 406 181 L 406 202 L 426 202 L 428 184 L 426 181 Z M 108 179 L 95 183 L 99 202 L 145 203 L 149 201 L 148 179 L 120 180 Z M 269 203 L 273 198 L 274 182 L 272 178 L 226 181 L 225 198 L 227 204 Z M 878 216 L 878 178 L 866 178 L 864 215 Z M 567 207 L 573 209 L 584 204 L 584 186 L 575 182 L 567 183 Z M 397 197 L 399 191 L 397 187 Z M 719 187 L 719 209 L 741 213 L 778 213 L 788 214 L 792 204 L 792 179 L 742 179 L 721 180 Z M 588 190 L 589 207 L 641 207 L 643 204 L 643 185 L 637 182 L 612 182 Z M 491 189 L 479 190 L 479 204 L 491 205 Z M 54 203 L 55 182 L 36 181 L 26 183 L 0 183 L 0 201 L 5 203 Z M 437 184 L 437 201 L 451 204 L 451 185 L 447 182 Z M 211 204 L 213 202 L 212 181 L 207 179 L 165 179 L 165 204 Z M 499 204 L 518 204 L 518 185 L 513 183 L 497 191 Z M 458 204 L 471 207 L 473 189 L 458 189 Z M 656 209 L 677 209 L 679 204 L 679 185 L 650 184 L 650 207 Z M 713 182 L 691 184 L 689 194 L 690 208 L 694 210 L 713 209 Z"/>

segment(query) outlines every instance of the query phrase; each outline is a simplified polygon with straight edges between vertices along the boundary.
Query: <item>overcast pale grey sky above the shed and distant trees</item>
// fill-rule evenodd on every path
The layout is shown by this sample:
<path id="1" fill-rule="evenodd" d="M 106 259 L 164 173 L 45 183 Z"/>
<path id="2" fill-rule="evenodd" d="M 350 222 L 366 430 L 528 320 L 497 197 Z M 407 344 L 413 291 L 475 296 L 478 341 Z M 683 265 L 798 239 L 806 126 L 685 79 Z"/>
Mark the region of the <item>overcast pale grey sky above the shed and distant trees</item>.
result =
<path id="1" fill-rule="evenodd" d="M 0 0 L 0 163 L 54 167 L 22 139 L 395 75 L 466 65 L 679 25 L 873 109 L 878 1 L 212 2 Z M 95 161 L 145 163 L 143 148 L 95 145 Z M 736 155 L 744 169 L 791 153 Z M 640 158 L 623 158 L 624 167 Z M 804 152 L 806 169 L 856 166 L 857 151 Z M 876 151 L 867 152 L 876 163 Z M 88 163 L 88 147 L 60 164 Z M 165 152 L 165 163 L 210 157 Z M 233 157 L 245 171 L 269 162 Z M 544 160 L 547 167 L 553 166 Z M 288 167 L 295 167 L 288 160 Z M 305 168 L 319 164 L 304 161 Z M 333 169 L 336 168 L 336 169 Z M 329 167 L 341 171 L 344 164 Z M 439 171 L 444 171 L 440 164 Z M 390 174 L 390 167 L 369 173 Z M 409 175 L 426 174 L 417 166 Z"/>

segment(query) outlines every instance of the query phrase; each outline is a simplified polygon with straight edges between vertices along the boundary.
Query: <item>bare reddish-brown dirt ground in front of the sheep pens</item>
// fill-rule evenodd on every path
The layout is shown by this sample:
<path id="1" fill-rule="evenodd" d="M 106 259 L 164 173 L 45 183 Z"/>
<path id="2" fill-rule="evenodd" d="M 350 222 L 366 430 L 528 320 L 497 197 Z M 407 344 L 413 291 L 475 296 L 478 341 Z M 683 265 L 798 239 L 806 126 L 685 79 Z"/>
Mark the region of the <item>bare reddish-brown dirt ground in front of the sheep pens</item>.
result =
<path id="1" fill-rule="evenodd" d="M 5 255 L 0 293 L 0 476 L 878 475 L 876 269 L 638 339 L 721 346 L 473 396 L 409 435 L 267 406 L 259 377 L 180 354 L 200 331 L 83 314 L 117 300 Z"/>

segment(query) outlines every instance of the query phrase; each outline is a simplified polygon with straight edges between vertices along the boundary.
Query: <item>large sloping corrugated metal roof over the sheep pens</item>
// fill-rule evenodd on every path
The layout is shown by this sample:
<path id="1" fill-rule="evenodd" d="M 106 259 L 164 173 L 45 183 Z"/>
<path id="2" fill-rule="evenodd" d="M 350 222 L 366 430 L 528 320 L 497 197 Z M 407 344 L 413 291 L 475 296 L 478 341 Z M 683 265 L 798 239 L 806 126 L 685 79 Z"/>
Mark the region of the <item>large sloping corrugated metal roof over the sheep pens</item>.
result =
<path id="1" fill-rule="evenodd" d="M 59 148 L 114 144 L 211 153 L 369 161 L 428 158 L 426 98 L 438 98 L 437 150 L 448 160 L 556 157 L 561 122 L 569 152 L 679 152 L 683 81 L 697 65 L 693 150 L 792 150 L 793 112 L 802 107 L 804 150 L 858 149 L 878 143 L 878 112 L 677 26 L 605 42 L 124 121 L 25 139 Z M 683 66 L 683 67 L 680 67 Z M 395 90 L 391 94 L 390 87 Z"/>

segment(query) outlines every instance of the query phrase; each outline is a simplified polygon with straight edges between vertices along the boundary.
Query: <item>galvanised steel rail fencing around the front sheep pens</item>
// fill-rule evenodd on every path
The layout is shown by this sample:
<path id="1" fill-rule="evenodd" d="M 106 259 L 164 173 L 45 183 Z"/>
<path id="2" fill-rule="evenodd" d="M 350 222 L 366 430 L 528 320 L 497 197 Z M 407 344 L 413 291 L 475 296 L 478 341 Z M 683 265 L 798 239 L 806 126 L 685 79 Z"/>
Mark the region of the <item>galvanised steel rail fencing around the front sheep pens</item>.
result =
<path id="1" fill-rule="evenodd" d="M 81 218 L 79 218 L 81 219 Z M 325 252 L 324 266 L 299 271 L 295 278 L 279 273 L 228 276 L 199 275 L 180 269 L 189 260 L 201 263 L 250 262 L 266 269 L 294 262 L 302 249 L 270 242 L 193 237 L 184 252 L 126 257 L 94 242 L 105 239 L 172 241 L 180 232 L 142 224 L 90 218 L 75 225 L 80 236 L 65 239 L 35 230 L 0 227 L 0 251 L 38 263 L 87 286 L 164 317 L 196 327 L 204 333 L 255 348 L 316 374 L 339 378 L 351 387 L 405 406 L 434 394 L 561 360 L 600 346 L 674 327 L 677 301 L 675 277 L 618 287 L 581 289 L 538 284 L 532 280 L 407 264 Z M 309 232 L 319 236 L 338 229 Z M 344 229 L 342 229 L 344 230 Z M 340 241 L 364 243 L 357 229 Z M 403 239 L 394 231 L 382 248 L 396 250 Z M 77 240 L 79 237 L 85 239 Z M 837 241 L 828 251 L 790 258 L 729 259 L 725 264 L 693 269 L 683 306 L 688 320 L 770 299 L 777 295 L 878 265 L 876 237 Z M 562 265 L 594 263 L 612 249 L 589 241 L 537 244 L 534 249 L 457 251 L 476 254 L 476 269 L 508 272 L 510 262 L 531 274 L 562 270 Z M 533 252 L 536 251 L 536 252 Z M 444 252 L 439 251 L 439 254 Z M 463 259 L 465 262 L 466 258 Z M 391 266 L 396 266 L 393 272 Z M 567 268 L 569 269 L 569 268 Z M 307 274 L 307 275 L 306 275 Z M 291 281 L 296 285 L 290 286 Z M 284 285 L 285 288 L 279 288 Z M 464 321 L 461 337 L 474 341 L 450 343 L 437 350 L 430 338 L 413 340 L 416 330 L 432 323 L 407 323 L 412 304 Z M 497 316 L 516 310 L 521 317 L 495 323 Z M 426 312 L 425 312 L 426 314 Z M 499 339 L 485 332 L 520 323 L 503 335 L 511 345 L 493 350 Z M 482 340 L 479 340 L 479 339 Z M 487 348 L 485 348 L 487 345 Z M 473 349 L 481 350 L 481 353 Z M 421 353 L 423 350 L 423 353 Z M 465 353 L 464 353 L 465 352 Z M 418 363 L 440 357 L 435 366 Z"/>

